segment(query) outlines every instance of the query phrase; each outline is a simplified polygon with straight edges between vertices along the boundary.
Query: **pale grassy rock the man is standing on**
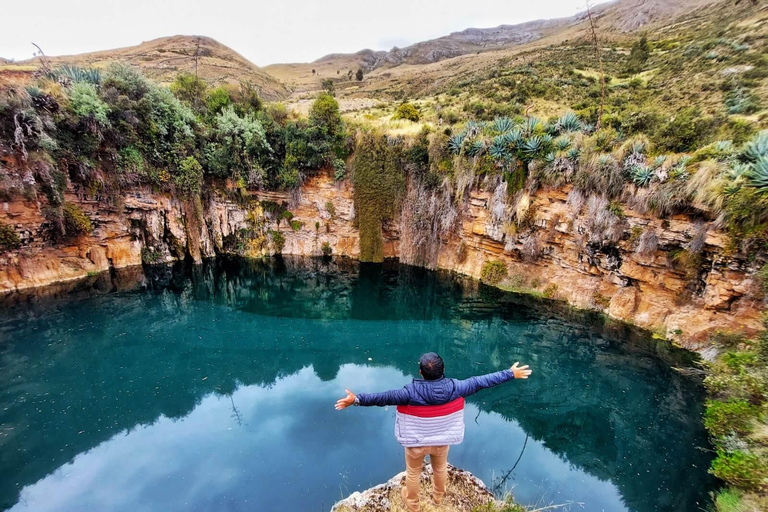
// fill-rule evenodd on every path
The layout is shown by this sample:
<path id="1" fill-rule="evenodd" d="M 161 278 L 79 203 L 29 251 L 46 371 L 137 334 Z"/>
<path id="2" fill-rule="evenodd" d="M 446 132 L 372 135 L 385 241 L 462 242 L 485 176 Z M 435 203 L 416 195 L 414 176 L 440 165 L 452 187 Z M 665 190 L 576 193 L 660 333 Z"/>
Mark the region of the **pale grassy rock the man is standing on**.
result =
<path id="1" fill-rule="evenodd" d="M 371 487 L 363 492 L 354 492 L 337 502 L 331 512 L 406 512 L 408 509 L 400 496 L 400 489 L 405 485 L 405 471 L 398 473 L 387 482 Z M 421 470 L 421 510 L 431 512 L 471 512 L 475 507 L 488 502 L 498 505 L 502 503 L 495 499 L 493 493 L 482 480 L 469 471 L 448 465 L 448 483 L 439 508 L 435 507 L 431 498 L 432 465 L 426 464 Z"/>

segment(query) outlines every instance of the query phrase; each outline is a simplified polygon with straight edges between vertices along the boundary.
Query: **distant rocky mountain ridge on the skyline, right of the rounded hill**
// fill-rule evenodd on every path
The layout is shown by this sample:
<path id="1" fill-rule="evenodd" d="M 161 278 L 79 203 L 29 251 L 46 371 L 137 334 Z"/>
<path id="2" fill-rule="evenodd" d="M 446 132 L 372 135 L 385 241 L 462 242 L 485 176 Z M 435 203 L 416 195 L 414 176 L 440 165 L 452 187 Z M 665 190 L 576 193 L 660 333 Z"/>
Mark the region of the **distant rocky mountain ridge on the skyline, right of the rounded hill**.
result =
<path id="1" fill-rule="evenodd" d="M 603 38 L 622 41 L 633 32 L 667 25 L 681 15 L 714 3 L 718 3 L 718 0 L 617 0 L 597 6 L 593 14 L 600 24 Z M 587 23 L 586 12 L 580 12 L 567 18 L 536 20 L 494 28 L 468 28 L 405 48 L 395 47 L 389 51 L 366 49 L 353 54 L 331 54 L 310 63 L 272 64 L 264 70 L 297 90 L 311 90 L 313 87 L 319 87 L 324 78 L 344 79 L 350 76 L 350 71 L 354 73 L 357 69 L 366 73 L 375 70 L 391 71 L 391 68 L 401 65 L 420 66 L 462 55 L 476 55 L 515 47 L 526 48 L 535 42 L 556 44 L 583 36 Z M 375 76 L 372 75 L 372 78 Z"/>

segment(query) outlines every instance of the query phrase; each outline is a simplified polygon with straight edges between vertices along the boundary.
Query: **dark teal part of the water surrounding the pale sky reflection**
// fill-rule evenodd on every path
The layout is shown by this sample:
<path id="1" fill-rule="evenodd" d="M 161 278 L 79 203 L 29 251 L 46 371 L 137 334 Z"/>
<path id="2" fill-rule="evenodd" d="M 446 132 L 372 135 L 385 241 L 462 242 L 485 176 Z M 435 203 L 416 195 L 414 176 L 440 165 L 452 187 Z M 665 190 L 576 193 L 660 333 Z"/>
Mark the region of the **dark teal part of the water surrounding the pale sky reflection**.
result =
<path id="1" fill-rule="evenodd" d="M 189 414 L 207 394 L 267 386 L 309 365 L 323 380 L 346 363 L 415 374 L 427 349 L 444 353 L 458 378 L 533 365 L 540 378 L 524 388 L 472 401 L 611 480 L 633 510 L 652 510 L 649 488 L 675 489 L 668 509 L 678 510 L 706 487 L 699 390 L 669 369 L 684 354 L 447 273 L 343 259 L 277 265 L 158 268 L 119 281 L 134 293 L 6 308 L 0 505 L 120 431 Z M 117 279 L 96 284 L 109 290 Z"/>

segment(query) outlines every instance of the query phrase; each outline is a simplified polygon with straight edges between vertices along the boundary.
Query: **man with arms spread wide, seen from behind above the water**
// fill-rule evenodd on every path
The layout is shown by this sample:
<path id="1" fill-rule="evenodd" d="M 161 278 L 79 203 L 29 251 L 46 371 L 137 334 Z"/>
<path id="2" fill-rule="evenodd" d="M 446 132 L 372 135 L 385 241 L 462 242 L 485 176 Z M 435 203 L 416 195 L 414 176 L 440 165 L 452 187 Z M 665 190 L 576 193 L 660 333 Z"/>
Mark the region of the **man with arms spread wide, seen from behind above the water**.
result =
<path id="1" fill-rule="evenodd" d="M 383 393 L 355 395 L 347 389 L 347 396 L 336 402 L 336 409 L 350 405 L 397 406 L 395 437 L 405 447 L 406 478 L 402 496 L 408 509 L 418 512 L 419 477 L 425 455 L 429 455 L 434 475 L 432 500 L 437 505 L 443 500 L 448 448 L 464 440 L 464 397 L 508 380 L 527 379 L 531 370 L 527 365 L 518 365 L 466 380 L 446 379 L 443 359 L 429 352 L 419 358 L 419 374 L 423 379 L 413 379 L 402 389 Z"/>

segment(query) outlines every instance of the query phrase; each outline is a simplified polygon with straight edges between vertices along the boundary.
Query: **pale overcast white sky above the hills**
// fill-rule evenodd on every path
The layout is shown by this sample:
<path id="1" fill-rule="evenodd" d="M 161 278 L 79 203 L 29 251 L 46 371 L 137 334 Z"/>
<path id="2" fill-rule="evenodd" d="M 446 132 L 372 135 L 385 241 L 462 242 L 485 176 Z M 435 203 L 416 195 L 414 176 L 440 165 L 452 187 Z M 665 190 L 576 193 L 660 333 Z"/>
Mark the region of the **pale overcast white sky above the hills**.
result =
<path id="1" fill-rule="evenodd" d="M 593 4 L 605 0 L 593 0 Z M 432 39 L 469 27 L 571 16 L 585 0 L 0 0 L 0 57 L 133 46 L 205 35 L 260 66 L 309 62 Z"/>

